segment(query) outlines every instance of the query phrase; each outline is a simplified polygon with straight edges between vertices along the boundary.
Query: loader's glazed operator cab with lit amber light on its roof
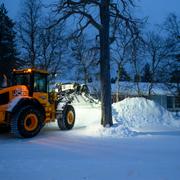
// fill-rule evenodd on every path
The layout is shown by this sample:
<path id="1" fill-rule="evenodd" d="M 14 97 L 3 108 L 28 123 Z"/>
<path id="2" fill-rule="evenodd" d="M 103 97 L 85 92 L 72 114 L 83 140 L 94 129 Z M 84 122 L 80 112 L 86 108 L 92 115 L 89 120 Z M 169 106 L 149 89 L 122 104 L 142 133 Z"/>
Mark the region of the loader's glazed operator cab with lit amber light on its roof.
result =
<path id="1" fill-rule="evenodd" d="M 36 92 L 47 93 L 47 76 L 48 73 L 44 70 L 13 70 L 13 85 L 27 86 L 30 96 Z"/>

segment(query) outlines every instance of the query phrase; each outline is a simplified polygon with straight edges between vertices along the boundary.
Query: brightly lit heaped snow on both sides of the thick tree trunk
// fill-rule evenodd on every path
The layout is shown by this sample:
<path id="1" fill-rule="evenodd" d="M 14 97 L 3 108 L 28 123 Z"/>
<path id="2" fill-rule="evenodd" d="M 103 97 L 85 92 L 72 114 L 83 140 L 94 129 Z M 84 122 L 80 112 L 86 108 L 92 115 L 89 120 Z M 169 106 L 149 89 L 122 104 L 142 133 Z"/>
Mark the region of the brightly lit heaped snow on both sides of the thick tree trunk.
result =
<path id="1" fill-rule="evenodd" d="M 145 98 L 127 98 L 112 106 L 113 127 L 100 125 L 100 108 L 76 107 L 77 134 L 100 137 L 128 137 L 138 132 L 168 131 L 179 128 L 172 113 Z"/>

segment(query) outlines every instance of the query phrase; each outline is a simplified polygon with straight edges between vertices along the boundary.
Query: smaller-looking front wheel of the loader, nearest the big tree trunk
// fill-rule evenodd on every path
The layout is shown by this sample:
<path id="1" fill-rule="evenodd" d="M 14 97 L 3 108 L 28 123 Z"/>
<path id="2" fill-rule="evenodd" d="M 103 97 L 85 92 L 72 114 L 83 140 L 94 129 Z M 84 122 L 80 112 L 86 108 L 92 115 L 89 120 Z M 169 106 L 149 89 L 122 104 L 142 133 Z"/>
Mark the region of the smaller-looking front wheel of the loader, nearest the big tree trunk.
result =
<path id="1" fill-rule="evenodd" d="M 57 123 L 61 130 L 70 130 L 75 123 L 75 110 L 73 106 L 66 105 L 64 110 L 57 116 Z"/>

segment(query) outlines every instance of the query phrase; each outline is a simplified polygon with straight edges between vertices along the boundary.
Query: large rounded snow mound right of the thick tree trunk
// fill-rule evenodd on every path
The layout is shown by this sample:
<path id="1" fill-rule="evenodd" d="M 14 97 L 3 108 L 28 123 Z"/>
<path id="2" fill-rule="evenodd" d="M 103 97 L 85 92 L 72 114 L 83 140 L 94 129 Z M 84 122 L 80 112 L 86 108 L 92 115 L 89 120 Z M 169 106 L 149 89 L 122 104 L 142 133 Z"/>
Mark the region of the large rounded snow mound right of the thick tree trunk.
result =
<path id="1" fill-rule="evenodd" d="M 145 98 L 127 98 L 113 104 L 113 118 L 128 128 L 174 126 L 172 113 Z"/>

